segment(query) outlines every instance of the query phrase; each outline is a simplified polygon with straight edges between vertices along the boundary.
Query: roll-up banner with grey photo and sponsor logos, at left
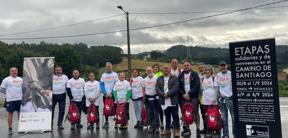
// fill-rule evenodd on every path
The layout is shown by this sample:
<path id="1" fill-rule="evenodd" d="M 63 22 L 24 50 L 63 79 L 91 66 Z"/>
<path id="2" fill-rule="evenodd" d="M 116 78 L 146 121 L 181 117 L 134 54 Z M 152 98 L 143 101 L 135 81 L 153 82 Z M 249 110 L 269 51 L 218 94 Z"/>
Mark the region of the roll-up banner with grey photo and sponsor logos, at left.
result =
<path id="1" fill-rule="evenodd" d="M 18 132 L 51 131 L 54 57 L 24 58 Z"/>

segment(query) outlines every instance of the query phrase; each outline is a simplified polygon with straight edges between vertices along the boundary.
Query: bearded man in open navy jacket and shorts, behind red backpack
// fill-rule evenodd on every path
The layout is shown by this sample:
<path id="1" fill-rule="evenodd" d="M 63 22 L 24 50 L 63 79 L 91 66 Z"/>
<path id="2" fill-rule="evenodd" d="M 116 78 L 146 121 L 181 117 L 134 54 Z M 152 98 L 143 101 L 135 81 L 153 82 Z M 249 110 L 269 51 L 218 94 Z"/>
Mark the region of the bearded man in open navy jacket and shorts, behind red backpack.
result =
<path id="1" fill-rule="evenodd" d="M 196 135 L 200 136 L 201 132 L 199 129 L 200 126 L 200 115 L 199 115 L 199 105 L 198 105 L 198 96 L 199 96 L 199 88 L 200 88 L 200 79 L 198 74 L 191 69 L 191 65 L 189 62 L 185 62 L 183 64 L 184 71 L 178 76 L 179 80 L 179 93 L 180 93 L 180 103 L 184 106 L 185 103 L 192 103 L 194 107 L 194 113 L 196 115 Z M 184 113 L 183 113 L 184 114 Z M 192 114 L 192 113 L 190 113 Z M 184 118 L 182 118 L 183 120 Z M 191 134 L 191 130 L 188 124 L 185 124 L 186 128 L 181 134 Z"/>

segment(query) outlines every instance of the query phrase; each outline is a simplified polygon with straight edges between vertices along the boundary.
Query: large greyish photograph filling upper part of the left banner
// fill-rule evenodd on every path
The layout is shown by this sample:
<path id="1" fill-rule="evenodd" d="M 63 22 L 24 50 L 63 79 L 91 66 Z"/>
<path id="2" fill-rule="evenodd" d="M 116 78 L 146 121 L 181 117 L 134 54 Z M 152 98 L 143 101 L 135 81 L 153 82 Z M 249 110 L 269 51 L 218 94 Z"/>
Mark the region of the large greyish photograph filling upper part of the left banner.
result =
<path id="1" fill-rule="evenodd" d="M 21 113 L 52 111 L 54 58 L 24 58 Z"/>

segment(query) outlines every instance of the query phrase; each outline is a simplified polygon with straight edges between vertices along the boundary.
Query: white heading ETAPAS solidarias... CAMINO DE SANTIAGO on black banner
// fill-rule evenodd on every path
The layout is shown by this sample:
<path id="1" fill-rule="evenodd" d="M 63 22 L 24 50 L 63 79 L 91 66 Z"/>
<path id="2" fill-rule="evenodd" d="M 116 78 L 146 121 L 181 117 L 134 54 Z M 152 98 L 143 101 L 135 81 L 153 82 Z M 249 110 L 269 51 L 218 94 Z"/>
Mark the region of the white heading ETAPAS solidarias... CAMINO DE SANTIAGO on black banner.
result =
<path id="1" fill-rule="evenodd" d="M 259 47 L 257 48 L 256 46 L 252 46 L 252 47 L 237 47 L 235 48 L 235 55 L 244 55 L 244 56 L 240 56 L 235 58 L 235 61 L 244 61 L 244 62 L 237 62 L 235 65 L 236 66 L 240 66 L 240 65 L 255 65 L 255 64 L 270 64 L 270 61 L 261 61 L 262 59 L 270 59 L 270 55 L 265 55 L 265 56 L 252 56 L 248 57 L 246 56 L 249 54 L 265 54 L 265 53 L 269 53 L 269 45 L 265 45 L 264 46 L 264 51 L 262 50 L 262 47 L 259 45 Z M 256 61 L 258 60 L 259 61 Z M 245 60 L 255 60 L 252 62 L 246 62 Z M 257 71 L 270 71 L 271 70 L 271 65 L 263 65 L 263 66 L 244 66 L 244 67 L 236 67 L 236 71 L 245 71 L 243 73 L 236 73 L 237 78 L 246 78 L 246 77 L 271 77 L 271 72 L 257 72 Z M 247 71 L 253 71 L 253 72 L 247 72 Z"/>

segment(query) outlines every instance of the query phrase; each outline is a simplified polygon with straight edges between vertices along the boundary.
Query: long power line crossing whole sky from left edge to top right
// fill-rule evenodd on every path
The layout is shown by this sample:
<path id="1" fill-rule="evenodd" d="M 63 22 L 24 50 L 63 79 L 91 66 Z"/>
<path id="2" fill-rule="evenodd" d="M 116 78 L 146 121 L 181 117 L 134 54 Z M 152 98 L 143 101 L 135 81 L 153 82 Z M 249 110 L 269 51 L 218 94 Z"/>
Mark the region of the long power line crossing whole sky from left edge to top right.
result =
<path id="1" fill-rule="evenodd" d="M 288 1 L 288 0 L 283 0 L 283 1 Z M 188 22 L 188 21 L 193 21 L 193 20 L 199 20 L 199 19 L 204 19 L 204 18 L 209 18 L 209 17 L 214 17 L 214 16 L 220 16 L 220 15 L 224 15 L 224 14 L 228 14 L 228 13 L 234 13 L 234 12 L 238 12 L 238 11 L 244 11 L 244 10 L 248 10 L 248 9 L 253 9 L 253 8 L 257 8 L 257 7 L 267 6 L 267 5 L 271 5 L 271 4 L 276 4 L 276 3 L 283 2 L 283 1 L 278 1 L 278 2 L 274 2 L 274 3 L 270 3 L 270 4 L 260 5 L 260 6 L 256 6 L 256 7 L 252 7 L 252 8 L 245 8 L 245 9 L 242 9 L 242 10 L 231 11 L 231 12 L 227 12 L 227 13 L 216 14 L 216 15 L 212 15 L 212 16 L 206 16 L 206 17 L 202 17 L 202 18 L 196 18 L 196 19 L 191 19 L 191 20 L 186 20 L 186 21 L 180 21 L 180 22 L 174 22 L 174 23 L 167 23 L 167 24 L 155 25 L 155 26 L 149 26 L 149 27 L 143 27 L 143 28 L 137 28 L 137 29 L 130 29 L 130 30 L 140 30 L 140 29 L 153 28 L 153 27 L 159 27 L 159 26 L 164 26 L 164 25 L 171 25 L 171 24 L 176 24 L 176 23 L 183 23 L 183 22 Z M 124 32 L 124 31 L 127 31 L 127 30 L 113 31 L 113 32 L 106 32 L 106 33 L 94 33 L 94 34 L 86 34 L 86 35 L 70 35 L 70 36 L 57 36 L 57 37 L 44 37 L 44 38 L 9 38 L 9 39 L 0 39 L 0 40 L 67 38 L 67 37 L 77 37 L 77 36 L 87 36 L 87 35 L 99 35 L 99 34 L 117 33 L 117 32 Z"/>

